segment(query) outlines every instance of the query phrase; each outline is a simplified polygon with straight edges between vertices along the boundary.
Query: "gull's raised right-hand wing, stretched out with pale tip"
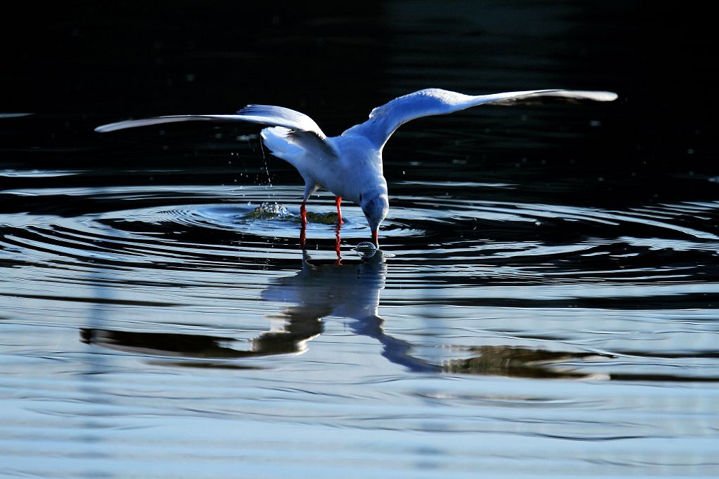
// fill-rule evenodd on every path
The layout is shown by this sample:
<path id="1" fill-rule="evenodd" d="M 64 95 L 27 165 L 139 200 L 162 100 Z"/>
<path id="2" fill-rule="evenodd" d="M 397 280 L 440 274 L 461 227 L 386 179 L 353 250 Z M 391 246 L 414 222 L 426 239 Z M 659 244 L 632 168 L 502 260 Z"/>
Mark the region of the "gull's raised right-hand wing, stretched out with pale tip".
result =
<path id="1" fill-rule="evenodd" d="M 471 96 L 439 88 L 427 88 L 378 106 L 370 119 L 363 124 L 352 126 L 342 135 L 362 135 L 381 149 L 389 137 L 401 125 L 423 116 L 445 115 L 485 103 L 513 103 L 539 97 L 554 97 L 565 100 L 613 101 L 616 93 L 610 91 L 582 90 L 526 90 L 492 95 Z"/>

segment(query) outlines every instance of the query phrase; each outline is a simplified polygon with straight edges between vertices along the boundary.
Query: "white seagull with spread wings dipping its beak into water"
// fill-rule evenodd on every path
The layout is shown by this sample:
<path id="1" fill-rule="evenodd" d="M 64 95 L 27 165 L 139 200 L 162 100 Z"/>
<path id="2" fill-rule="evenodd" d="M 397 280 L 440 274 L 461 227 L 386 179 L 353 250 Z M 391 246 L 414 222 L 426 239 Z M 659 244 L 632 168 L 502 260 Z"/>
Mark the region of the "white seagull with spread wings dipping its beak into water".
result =
<path id="1" fill-rule="evenodd" d="M 379 246 L 380 223 L 390 208 L 382 150 L 396 129 L 423 116 L 446 115 L 485 103 L 516 103 L 539 97 L 614 101 L 617 94 L 610 91 L 549 89 L 472 96 L 426 88 L 378 106 L 370 113 L 370 119 L 352 126 L 339 136 L 326 136 L 304 113 L 271 105 L 248 105 L 234 115 L 173 115 L 119 121 L 98 126 L 95 131 L 105 133 L 177 121 L 248 121 L 267 125 L 260 132 L 265 147 L 275 157 L 295 167 L 305 181 L 300 207 L 303 229 L 307 224 L 307 200 L 319 187 L 323 187 L 335 196 L 338 225 L 342 224 L 342 200 L 352 201 L 362 208 L 372 231 L 372 242 Z"/>

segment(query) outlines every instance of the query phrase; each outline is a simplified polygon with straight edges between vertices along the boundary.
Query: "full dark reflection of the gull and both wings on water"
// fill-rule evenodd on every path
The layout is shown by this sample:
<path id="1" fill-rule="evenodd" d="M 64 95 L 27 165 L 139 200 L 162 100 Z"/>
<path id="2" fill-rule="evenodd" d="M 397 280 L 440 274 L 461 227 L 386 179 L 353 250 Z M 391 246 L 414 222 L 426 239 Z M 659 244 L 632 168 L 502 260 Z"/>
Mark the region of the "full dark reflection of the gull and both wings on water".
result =
<path id="1" fill-rule="evenodd" d="M 133 332 L 83 328 L 83 343 L 127 353 L 163 358 L 168 366 L 209 368 L 262 368 L 257 361 L 273 355 L 302 353 L 308 343 L 324 330 L 323 318 L 347 318 L 357 334 L 383 346 L 388 361 L 409 371 L 423 373 L 464 373 L 526 378 L 590 378 L 587 373 L 557 367 L 559 363 L 596 356 L 595 353 L 551 352 L 506 345 L 480 345 L 467 349 L 470 358 L 432 363 L 413 355 L 414 345 L 384 330 L 377 315 L 380 292 L 385 287 L 388 264 L 383 251 L 344 262 L 313 260 L 302 252 L 301 269 L 293 276 L 278 279 L 262 292 L 262 299 L 288 304 L 268 319 L 280 320 L 282 327 L 242 341 L 211 335 L 164 332 Z M 247 347 L 249 345 L 249 347 Z M 172 361 L 167 361 L 173 358 Z"/>

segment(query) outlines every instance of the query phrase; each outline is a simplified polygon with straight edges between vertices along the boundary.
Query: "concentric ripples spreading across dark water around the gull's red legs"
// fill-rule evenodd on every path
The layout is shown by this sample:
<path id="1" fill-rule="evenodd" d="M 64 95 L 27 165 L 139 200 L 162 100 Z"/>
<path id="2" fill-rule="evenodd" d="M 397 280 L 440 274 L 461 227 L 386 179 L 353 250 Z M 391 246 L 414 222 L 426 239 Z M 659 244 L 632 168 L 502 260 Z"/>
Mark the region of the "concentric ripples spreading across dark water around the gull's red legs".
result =
<path id="1" fill-rule="evenodd" d="M 380 241 L 395 261 L 495 265 L 495 273 L 537 278 L 691 279 L 719 251 L 719 202 L 636 206 L 625 211 L 475 200 L 467 185 L 399 184 Z M 471 185 L 491 190 L 508 185 Z M 299 248 L 299 187 L 110 187 L 9 190 L 17 211 L 0 215 L 3 251 L 33 259 L 222 267 L 226 259 L 267 261 Z M 111 207 L 111 208 L 109 208 Z M 362 211 L 330 195 L 313 198 L 306 236 L 317 254 L 369 236 Z M 32 211 L 33 213 L 24 213 Z M 37 213 L 42 212 L 42 213 Z M 6 253 L 5 256 L 8 256 Z M 688 257 L 691 256 L 691 259 Z M 657 261 L 661 259 L 661 261 Z M 521 276 L 521 275 L 520 275 Z"/>

